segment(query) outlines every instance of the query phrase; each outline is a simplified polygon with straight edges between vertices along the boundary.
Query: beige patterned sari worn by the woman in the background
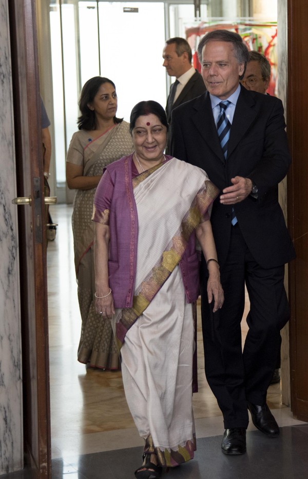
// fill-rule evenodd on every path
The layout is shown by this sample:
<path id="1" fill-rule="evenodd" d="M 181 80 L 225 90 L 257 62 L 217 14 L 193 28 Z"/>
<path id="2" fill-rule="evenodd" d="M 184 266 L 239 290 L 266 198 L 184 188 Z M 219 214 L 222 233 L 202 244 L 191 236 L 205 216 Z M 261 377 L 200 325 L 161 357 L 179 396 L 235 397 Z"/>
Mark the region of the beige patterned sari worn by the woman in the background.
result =
<path id="1" fill-rule="evenodd" d="M 74 163 L 74 153 L 84 154 L 84 175 L 101 175 L 105 166 L 132 152 L 129 125 L 115 125 L 92 142 L 91 132 L 79 131 L 72 138 L 67 161 Z M 93 258 L 94 225 L 91 221 L 96 188 L 78 190 L 74 198 L 72 228 L 78 300 L 82 330 L 78 348 L 78 361 L 92 367 L 118 369 L 119 354 L 114 342 L 110 322 L 102 320 L 94 308 L 95 276 Z"/>

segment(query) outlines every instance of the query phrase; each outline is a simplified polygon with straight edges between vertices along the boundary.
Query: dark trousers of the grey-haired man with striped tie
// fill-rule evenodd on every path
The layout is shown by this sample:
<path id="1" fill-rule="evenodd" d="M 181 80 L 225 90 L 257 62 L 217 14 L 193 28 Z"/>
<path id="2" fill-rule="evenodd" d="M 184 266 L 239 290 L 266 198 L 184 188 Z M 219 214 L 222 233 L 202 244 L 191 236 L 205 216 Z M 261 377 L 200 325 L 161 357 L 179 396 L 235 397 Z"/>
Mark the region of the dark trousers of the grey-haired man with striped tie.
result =
<path id="1" fill-rule="evenodd" d="M 225 301 L 213 313 L 207 301 L 207 269 L 201 263 L 201 312 L 205 374 L 223 413 L 224 427 L 247 427 L 247 401 L 262 405 L 280 348 L 280 330 L 289 308 L 284 265 L 261 268 L 249 252 L 240 227 L 232 228 L 226 264 L 220 271 Z M 245 283 L 251 309 L 242 350 L 241 320 Z"/>

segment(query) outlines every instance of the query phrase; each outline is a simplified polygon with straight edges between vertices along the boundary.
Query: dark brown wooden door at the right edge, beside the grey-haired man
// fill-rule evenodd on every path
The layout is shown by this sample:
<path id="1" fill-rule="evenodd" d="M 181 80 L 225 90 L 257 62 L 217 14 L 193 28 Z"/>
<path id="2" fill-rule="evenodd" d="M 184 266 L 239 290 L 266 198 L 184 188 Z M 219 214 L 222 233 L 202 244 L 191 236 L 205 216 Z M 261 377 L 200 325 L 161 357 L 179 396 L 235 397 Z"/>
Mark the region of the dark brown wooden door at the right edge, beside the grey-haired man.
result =
<path id="1" fill-rule="evenodd" d="M 287 179 L 288 226 L 296 260 L 289 268 L 291 408 L 308 421 L 308 3 L 288 0 L 287 135 L 292 165 Z"/>

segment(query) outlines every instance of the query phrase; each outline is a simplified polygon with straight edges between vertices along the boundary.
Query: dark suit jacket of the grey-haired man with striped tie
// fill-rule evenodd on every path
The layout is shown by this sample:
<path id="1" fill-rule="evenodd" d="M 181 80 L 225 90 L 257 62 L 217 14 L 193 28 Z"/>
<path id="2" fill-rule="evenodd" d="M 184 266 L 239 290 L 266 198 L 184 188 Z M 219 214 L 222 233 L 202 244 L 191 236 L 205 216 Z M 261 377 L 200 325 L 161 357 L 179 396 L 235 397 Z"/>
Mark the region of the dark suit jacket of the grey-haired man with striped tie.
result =
<path id="1" fill-rule="evenodd" d="M 237 175 L 251 178 L 258 198 L 249 195 L 234 210 L 245 242 L 263 268 L 281 266 L 295 257 L 278 203 L 278 183 L 291 163 L 281 101 L 241 87 L 224 160 L 210 97 L 206 92 L 172 111 L 172 155 L 199 166 L 222 191 Z M 211 224 L 220 264 L 228 252 L 232 205 L 215 200 Z"/>

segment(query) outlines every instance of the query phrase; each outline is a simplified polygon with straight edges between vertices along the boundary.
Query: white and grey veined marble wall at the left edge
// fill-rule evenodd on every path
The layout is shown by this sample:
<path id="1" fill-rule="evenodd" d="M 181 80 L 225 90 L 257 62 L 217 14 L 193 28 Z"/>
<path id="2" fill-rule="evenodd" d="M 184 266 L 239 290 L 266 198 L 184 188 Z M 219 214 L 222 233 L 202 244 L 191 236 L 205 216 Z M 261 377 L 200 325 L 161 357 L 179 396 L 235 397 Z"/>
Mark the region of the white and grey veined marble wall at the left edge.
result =
<path id="1" fill-rule="evenodd" d="M 9 0 L 0 0 L 0 474 L 23 468 L 22 355 Z"/>

